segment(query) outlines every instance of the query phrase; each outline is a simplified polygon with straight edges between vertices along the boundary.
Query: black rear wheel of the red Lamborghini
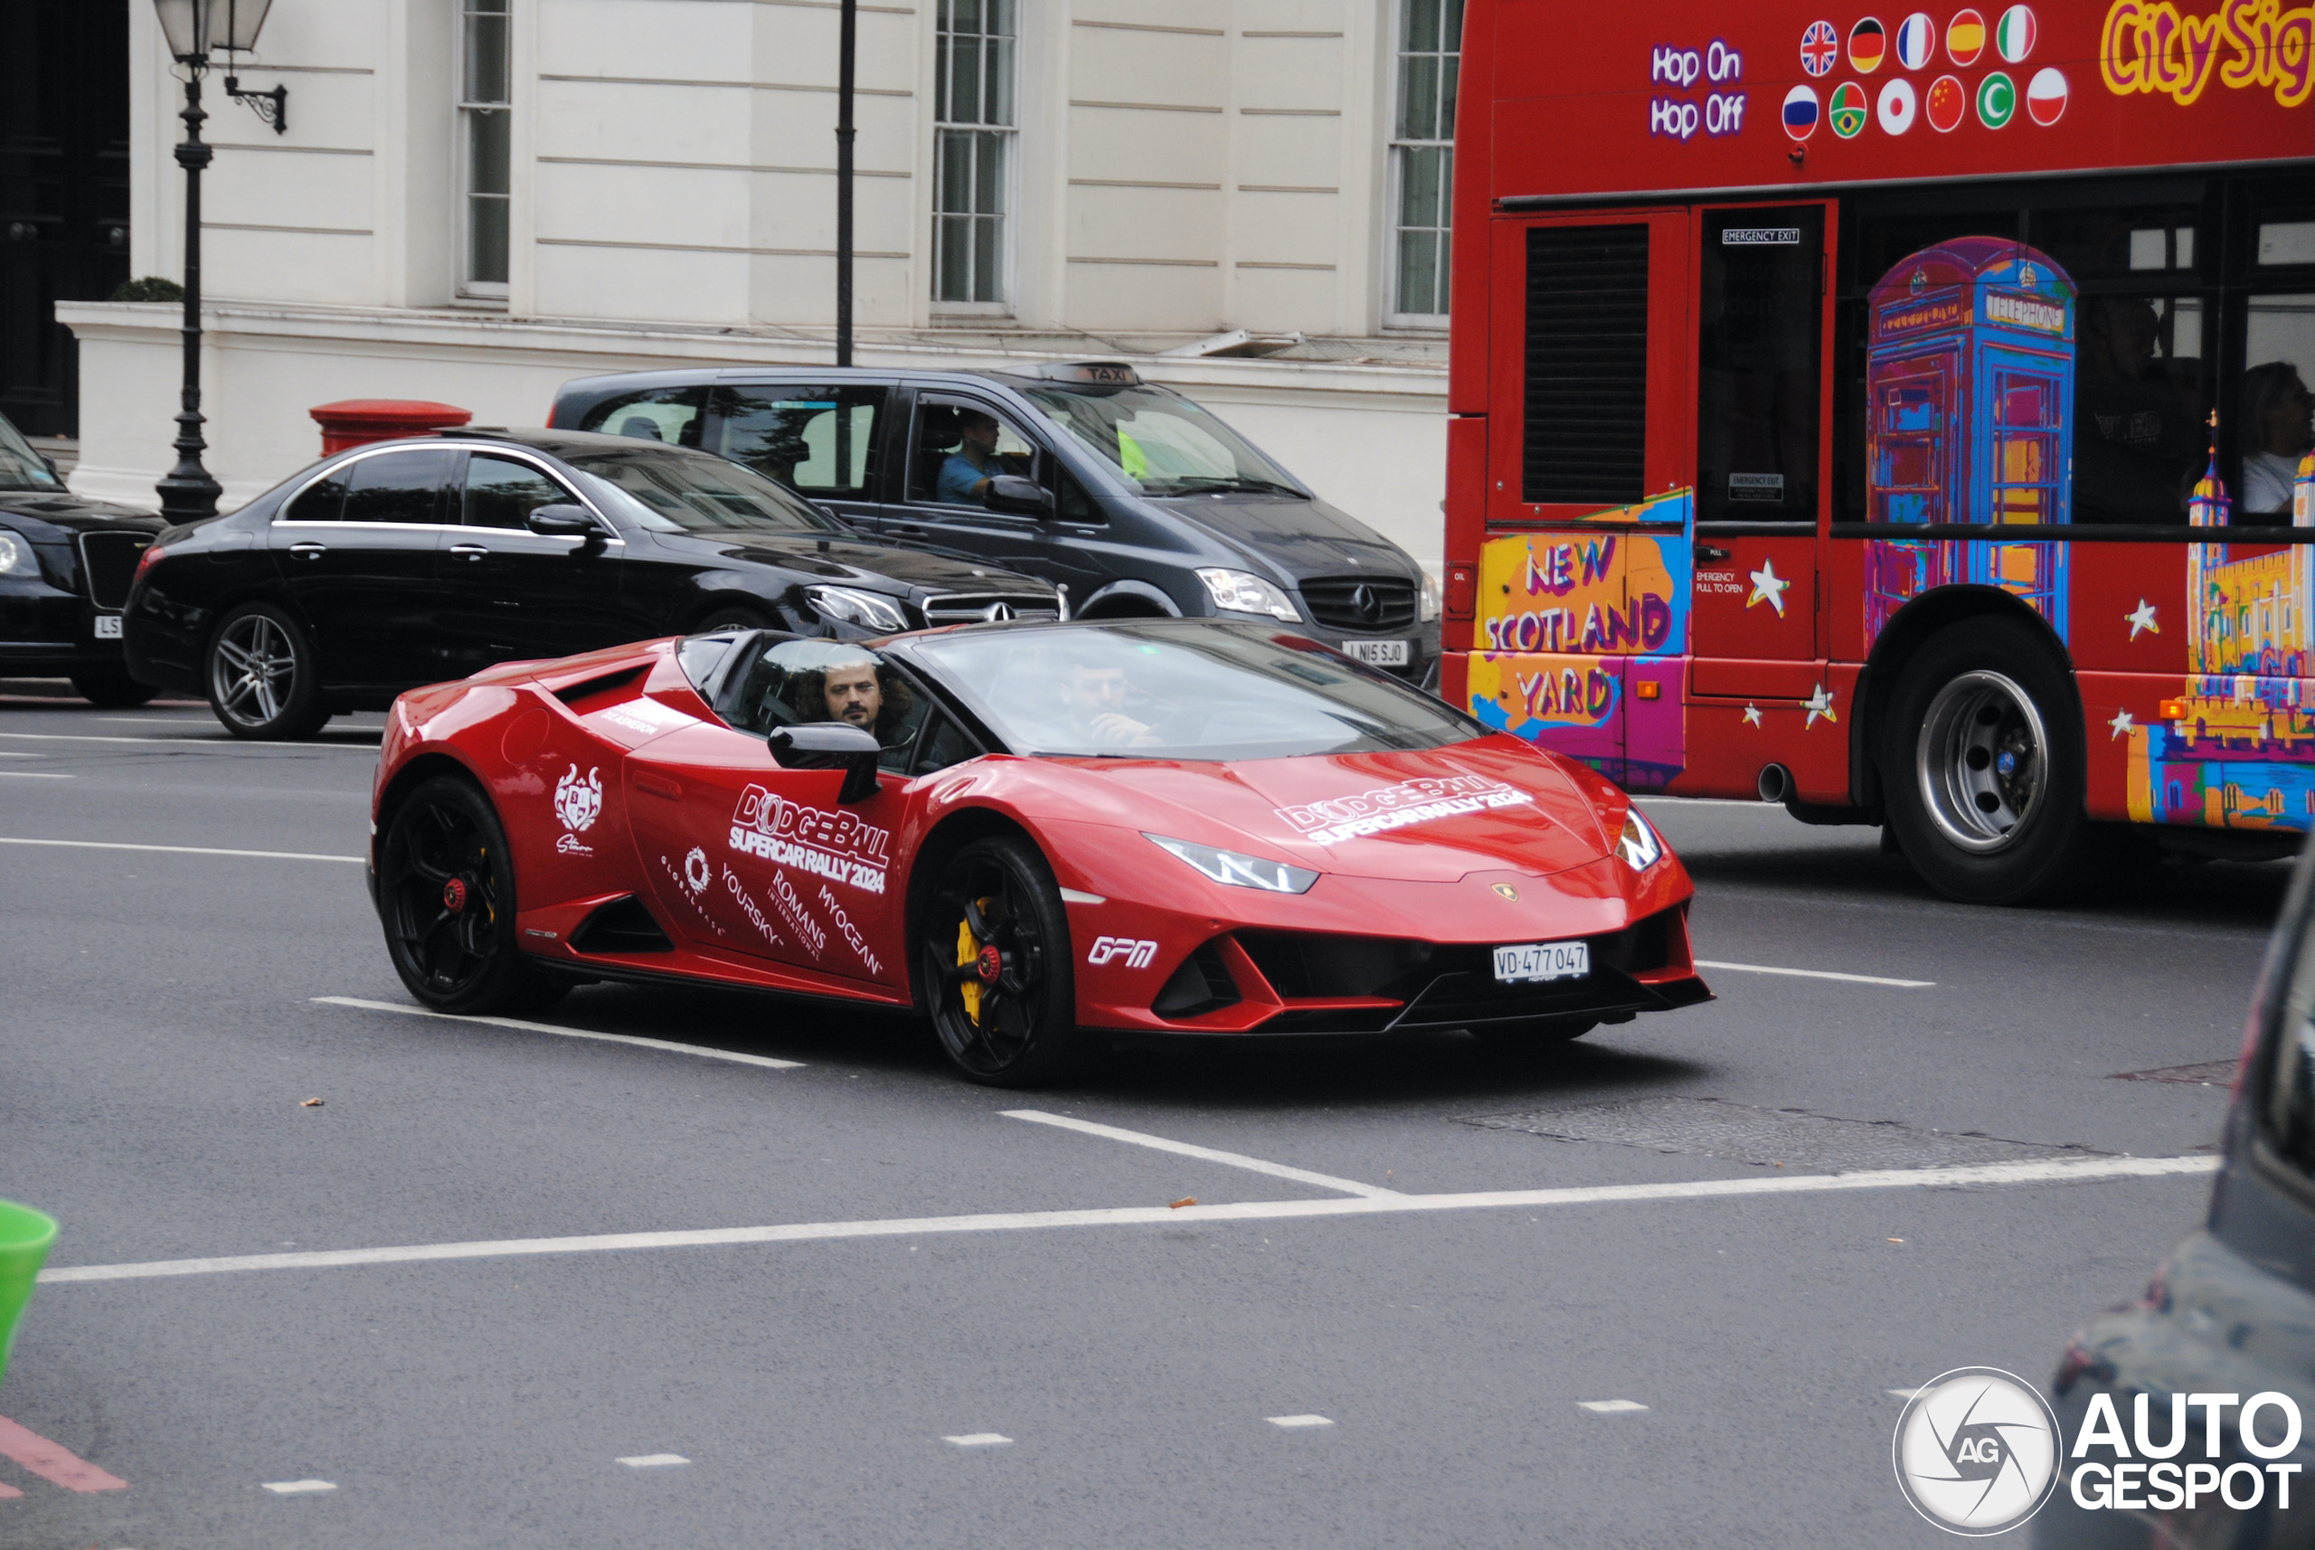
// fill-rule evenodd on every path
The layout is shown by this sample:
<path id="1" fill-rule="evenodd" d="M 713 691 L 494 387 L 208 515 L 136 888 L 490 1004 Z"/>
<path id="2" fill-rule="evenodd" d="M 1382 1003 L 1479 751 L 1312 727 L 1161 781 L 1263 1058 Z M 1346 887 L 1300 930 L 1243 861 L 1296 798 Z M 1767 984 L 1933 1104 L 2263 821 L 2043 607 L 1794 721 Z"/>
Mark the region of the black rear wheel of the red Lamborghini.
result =
<path id="1" fill-rule="evenodd" d="M 435 1011 L 537 1009 L 567 990 L 514 946 L 507 831 L 463 775 L 435 775 L 394 810 L 377 849 L 377 916 L 394 972 Z"/>

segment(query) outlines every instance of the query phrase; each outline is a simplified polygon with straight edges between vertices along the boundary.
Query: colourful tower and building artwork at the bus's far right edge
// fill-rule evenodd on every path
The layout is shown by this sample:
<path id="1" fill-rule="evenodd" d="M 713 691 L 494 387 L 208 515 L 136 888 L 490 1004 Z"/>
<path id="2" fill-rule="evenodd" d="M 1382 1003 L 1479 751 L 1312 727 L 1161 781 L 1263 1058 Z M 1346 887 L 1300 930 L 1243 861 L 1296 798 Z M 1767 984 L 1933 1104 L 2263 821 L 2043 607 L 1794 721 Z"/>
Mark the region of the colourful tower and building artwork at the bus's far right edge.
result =
<path id="1" fill-rule="evenodd" d="M 2213 451 L 2188 521 L 2225 527 L 2227 516 Z M 2185 692 L 2162 701 L 2160 722 L 2130 729 L 2130 817 L 2315 828 L 2315 548 L 2188 544 L 2185 553 Z"/>

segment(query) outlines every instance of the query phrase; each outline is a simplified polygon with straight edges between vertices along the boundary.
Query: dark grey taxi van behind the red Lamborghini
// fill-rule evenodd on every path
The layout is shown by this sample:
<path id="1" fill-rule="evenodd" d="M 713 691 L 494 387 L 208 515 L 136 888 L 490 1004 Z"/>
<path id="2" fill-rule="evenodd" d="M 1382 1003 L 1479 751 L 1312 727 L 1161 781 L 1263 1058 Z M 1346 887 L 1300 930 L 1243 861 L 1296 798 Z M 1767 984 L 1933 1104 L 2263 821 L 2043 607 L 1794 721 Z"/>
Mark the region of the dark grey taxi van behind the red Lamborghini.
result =
<path id="1" fill-rule="evenodd" d="M 623 372 L 563 384 L 549 423 L 745 463 L 889 544 L 1044 576 L 1076 618 L 1303 622 L 1410 682 L 1438 664 L 1403 548 L 1123 361 Z"/>

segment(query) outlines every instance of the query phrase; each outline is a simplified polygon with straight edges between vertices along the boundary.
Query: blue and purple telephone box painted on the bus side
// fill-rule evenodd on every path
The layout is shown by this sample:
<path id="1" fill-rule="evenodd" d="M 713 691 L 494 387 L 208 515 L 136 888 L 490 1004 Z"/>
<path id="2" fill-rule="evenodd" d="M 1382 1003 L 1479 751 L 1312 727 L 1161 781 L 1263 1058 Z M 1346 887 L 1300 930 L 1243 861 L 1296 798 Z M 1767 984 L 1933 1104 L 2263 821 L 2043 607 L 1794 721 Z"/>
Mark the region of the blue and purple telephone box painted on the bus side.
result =
<path id="1" fill-rule="evenodd" d="M 2046 254 L 1963 236 L 1873 287 L 1866 345 L 1866 521 L 2072 521 L 2074 282 Z M 1931 588 L 2019 595 L 2067 639 L 2063 544 L 1873 539 L 1866 643 Z"/>

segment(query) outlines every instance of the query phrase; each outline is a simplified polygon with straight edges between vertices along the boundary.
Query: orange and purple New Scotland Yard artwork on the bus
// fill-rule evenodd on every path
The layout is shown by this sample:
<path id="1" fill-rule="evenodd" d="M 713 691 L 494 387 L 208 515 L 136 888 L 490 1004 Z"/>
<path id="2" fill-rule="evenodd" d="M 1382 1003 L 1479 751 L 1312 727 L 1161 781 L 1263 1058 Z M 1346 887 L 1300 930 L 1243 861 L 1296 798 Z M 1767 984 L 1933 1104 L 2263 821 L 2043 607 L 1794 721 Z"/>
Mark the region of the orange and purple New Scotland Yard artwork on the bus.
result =
<path id="1" fill-rule="evenodd" d="M 1470 713 L 1630 789 L 1669 784 L 1685 763 L 1695 514 L 1695 495 L 1674 490 L 1595 511 L 1581 530 L 1491 539 Z"/>

